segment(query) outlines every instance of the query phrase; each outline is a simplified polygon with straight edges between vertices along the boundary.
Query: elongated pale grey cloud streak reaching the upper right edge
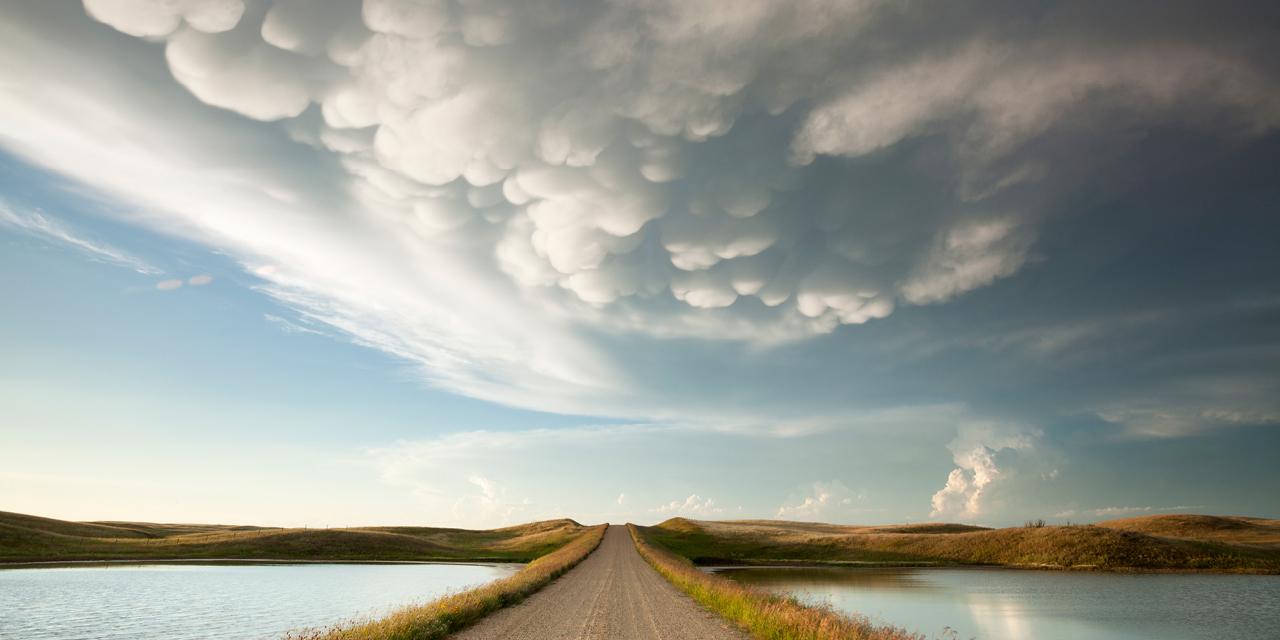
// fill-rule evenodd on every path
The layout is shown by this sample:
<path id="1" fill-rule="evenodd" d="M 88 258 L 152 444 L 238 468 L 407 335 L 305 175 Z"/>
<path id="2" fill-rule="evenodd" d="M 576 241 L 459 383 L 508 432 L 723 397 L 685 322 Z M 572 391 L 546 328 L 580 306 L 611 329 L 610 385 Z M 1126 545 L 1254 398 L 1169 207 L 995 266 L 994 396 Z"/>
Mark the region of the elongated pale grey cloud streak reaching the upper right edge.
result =
<path id="1" fill-rule="evenodd" d="M 1189 44 L 1091 50 L 1046 35 L 1021 46 L 979 40 L 850 83 L 809 114 L 794 152 L 800 161 L 818 154 L 865 155 L 938 132 L 964 114 L 972 118 L 964 132 L 966 156 L 988 160 L 1107 92 L 1140 106 L 1148 118 L 1178 118 L 1170 108 L 1198 99 L 1226 106 L 1248 127 L 1280 122 L 1275 87 L 1240 60 Z"/>

